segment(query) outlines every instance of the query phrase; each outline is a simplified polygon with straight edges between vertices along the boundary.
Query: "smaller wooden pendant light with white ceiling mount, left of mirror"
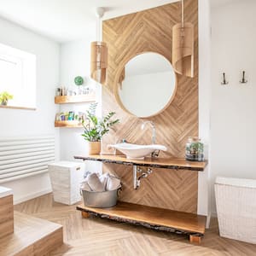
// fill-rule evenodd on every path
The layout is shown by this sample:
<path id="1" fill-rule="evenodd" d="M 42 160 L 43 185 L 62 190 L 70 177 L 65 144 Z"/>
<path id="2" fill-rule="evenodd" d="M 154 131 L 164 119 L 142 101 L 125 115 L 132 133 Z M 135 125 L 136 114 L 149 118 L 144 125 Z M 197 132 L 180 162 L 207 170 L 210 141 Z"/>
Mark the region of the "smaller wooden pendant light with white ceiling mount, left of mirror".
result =
<path id="1" fill-rule="evenodd" d="M 106 83 L 107 67 L 108 67 L 108 47 L 101 41 L 101 22 L 100 19 L 104 15 L 104 9 L 99 7 L 96 9 L 98 17 L 97 24 L 97 41 L 90 44 L 90 77 L 101 84 Z"/>

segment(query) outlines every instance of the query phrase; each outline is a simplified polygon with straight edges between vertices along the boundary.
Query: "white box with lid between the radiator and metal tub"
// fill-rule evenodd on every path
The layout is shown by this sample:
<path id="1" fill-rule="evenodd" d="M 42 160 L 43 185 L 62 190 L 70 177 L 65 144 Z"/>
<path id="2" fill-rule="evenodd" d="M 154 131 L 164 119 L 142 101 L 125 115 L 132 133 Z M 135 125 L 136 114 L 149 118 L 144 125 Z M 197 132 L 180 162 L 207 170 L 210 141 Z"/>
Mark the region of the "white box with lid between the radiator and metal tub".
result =
<path id="1" fill-rule="evenodd" d="M 84 163 L 59 161 L 48 165 L 54 201 L 73 205 L 81 201 L 80 183 L 84 177 Z"/>

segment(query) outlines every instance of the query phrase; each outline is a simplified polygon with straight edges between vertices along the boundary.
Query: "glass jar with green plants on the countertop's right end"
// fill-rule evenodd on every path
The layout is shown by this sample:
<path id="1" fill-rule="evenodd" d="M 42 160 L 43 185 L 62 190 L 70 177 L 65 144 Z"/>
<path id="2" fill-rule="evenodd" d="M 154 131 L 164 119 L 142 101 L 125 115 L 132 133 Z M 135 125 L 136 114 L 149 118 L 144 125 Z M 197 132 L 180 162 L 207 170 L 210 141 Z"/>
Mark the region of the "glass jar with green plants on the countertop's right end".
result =
<path id="1" fill-rule="evenodd" d="M 199 137 L 188 137 L 188 141 L 186 143 L 186 160 L 204 160 L 204 144 L 201 143 L 201 139 Z"/>

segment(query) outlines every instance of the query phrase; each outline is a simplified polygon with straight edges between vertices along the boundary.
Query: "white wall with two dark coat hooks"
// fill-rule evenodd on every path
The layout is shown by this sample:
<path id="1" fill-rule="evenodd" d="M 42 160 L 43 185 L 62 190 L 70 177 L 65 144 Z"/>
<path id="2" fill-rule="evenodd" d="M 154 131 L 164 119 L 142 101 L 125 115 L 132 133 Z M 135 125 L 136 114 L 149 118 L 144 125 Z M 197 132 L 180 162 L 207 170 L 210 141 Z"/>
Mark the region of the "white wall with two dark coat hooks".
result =
<path id="1" fill-rule="evenodd" d="M 216 176 L 256 178 L 255 10 L 254 0 L 212 8 L 212 184 Z M 239 83 L 242 70 L 247 84 Z M 230 84 L 220 84 L 222 73 Z"/>

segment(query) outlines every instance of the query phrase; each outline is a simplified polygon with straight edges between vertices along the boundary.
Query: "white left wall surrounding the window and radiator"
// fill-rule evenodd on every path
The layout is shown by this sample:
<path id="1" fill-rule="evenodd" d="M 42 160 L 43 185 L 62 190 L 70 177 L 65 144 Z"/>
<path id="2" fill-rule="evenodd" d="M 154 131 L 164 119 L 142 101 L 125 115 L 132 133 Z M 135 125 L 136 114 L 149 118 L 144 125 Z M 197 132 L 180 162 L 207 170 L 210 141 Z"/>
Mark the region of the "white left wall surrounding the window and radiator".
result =
<path id="1" fill-rule="evenodd" d="M 59 83 L 59 44 L 3 19 L 0 19 L 0 31 L 0 43 L 37 56 L 37 110 L 0 108 L 0 137 L 55 134 L 58 159 L 59 132 L 54 127 L 58 107 L 54 96 Z M 51 190 L 47 173 L 1 185 L 14 190 L 15 202 Z"/>

